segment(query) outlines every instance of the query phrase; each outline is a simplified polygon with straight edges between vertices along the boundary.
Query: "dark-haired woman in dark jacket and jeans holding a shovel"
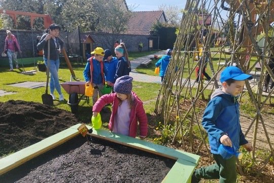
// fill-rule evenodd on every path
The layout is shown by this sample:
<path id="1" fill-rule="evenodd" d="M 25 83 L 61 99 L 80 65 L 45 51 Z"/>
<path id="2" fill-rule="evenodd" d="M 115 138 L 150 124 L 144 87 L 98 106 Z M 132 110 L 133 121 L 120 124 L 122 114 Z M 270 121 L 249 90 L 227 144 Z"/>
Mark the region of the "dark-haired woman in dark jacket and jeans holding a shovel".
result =
<path id="1" fill-rule="evenodd" d="M 48 67 L 48 62 L 50 62 L 50 68 L 48 68 L 50 72 L 50 95 L 53 100 L 55 100 L 54 89 L 56 89 L 59 94 L 59 101 L 63 101 L 64 96 L 59 83 L 58 70 L 60 66 L 59 54 L 61 53 L 64 42 L 58 37 L 59 31 L 60 27 L 58 25 L 51 24 L 48 32 L 43 34 L 41 40 L 37 44 L 37 49 L 43 49 L 46 67 Z M 48 60 L 48 41 L 50 41 L 50 60 Z"/>

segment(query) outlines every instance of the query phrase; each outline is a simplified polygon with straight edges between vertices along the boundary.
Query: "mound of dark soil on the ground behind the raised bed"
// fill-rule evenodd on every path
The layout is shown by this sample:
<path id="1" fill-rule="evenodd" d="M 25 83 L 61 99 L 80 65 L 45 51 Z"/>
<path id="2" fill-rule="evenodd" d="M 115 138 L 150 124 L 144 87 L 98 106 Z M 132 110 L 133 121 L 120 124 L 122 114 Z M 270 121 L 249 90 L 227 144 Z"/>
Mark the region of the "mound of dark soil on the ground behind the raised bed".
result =
<path id="1" fill-rule="evenodd" d="M 0 103 L 0 156 L 81 123 L 71 112 L 35 102 Z"/>

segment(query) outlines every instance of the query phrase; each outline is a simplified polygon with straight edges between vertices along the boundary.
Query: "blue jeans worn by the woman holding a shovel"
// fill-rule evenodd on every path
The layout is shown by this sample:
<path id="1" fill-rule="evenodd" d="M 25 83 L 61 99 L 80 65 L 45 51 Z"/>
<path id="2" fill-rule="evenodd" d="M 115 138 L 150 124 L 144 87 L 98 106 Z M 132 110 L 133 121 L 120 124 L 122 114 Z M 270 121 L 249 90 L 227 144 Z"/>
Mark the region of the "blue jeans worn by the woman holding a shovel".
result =
<path id="1" fill-rule="evenodd" d="M 48 67 L 48 59 L 44 57 L 45 65 Z M 59 83 L 58 70 L 60 66 L 59 58 L 57 60 L 50 60 L 50 93 L 53 94 L 54 89 L 56 88 L 59 95 L 62 95 L 61 86 Z"/>

